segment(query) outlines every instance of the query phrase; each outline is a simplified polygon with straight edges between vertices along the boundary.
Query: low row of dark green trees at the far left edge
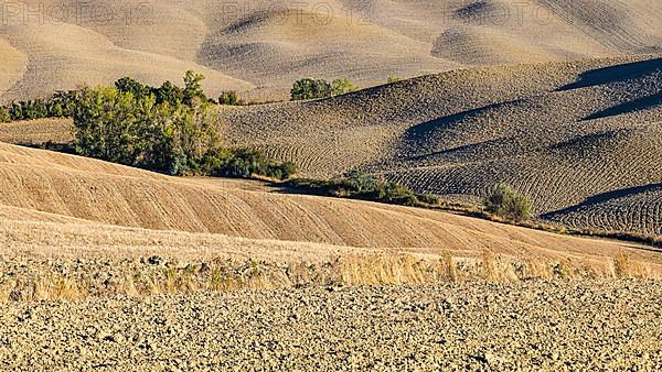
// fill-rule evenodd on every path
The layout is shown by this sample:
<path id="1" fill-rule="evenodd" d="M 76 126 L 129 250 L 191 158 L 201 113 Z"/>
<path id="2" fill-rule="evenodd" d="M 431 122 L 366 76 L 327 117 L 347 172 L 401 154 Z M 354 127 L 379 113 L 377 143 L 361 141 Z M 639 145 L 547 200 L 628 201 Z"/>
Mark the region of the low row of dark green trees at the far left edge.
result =
<path id="1" fill-rule="evenodd" d="M 0 107 L 0 122 L 71 117 L 76 106 L 78 91 L 57 91 L 49 99 L 12 102 Z"/>

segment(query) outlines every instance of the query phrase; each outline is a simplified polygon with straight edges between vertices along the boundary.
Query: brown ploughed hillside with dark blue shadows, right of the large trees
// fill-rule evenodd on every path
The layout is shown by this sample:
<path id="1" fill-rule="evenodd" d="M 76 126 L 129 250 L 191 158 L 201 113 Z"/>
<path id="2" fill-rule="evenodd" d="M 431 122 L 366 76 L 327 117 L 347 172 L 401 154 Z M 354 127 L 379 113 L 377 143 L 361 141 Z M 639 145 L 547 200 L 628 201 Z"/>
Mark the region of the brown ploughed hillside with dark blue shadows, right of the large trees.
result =
<path id="1" fill-rule="evenodd" d="M 225 109 L 224 128 L 318 177 L 364 168 L 470 200 L 505 182 L 544 218 L 662 234 L 661 90 L 659 56 L 485 67 Z"/>

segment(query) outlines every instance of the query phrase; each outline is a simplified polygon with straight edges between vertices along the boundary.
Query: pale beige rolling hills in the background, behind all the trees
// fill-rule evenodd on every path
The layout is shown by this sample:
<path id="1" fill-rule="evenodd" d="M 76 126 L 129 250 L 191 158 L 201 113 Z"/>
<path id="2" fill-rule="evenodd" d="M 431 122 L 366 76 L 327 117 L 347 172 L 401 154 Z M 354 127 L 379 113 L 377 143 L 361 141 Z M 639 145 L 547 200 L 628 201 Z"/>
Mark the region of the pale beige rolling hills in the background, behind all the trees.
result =
<path id="1" fill-rule="evenodd" d="M 55 7 L 54 7 L 55 6 Z M 0 25 L 0 100 L 131 75 L 284 97 L 305 75 L 363 86 L 485 66 L 660 51 L 653 0 L 11 3 Z M 159 68 L 153 68 L 159 66 Z"/>

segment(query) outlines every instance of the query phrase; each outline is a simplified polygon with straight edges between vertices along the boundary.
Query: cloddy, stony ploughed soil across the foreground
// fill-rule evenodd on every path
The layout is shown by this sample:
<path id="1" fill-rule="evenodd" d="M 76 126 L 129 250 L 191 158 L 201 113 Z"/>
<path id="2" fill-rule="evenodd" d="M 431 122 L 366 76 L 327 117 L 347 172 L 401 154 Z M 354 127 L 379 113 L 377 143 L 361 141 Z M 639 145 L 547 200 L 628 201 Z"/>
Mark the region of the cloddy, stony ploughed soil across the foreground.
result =
<path id="1" fill-rule="evenodd" d="M 0 369 L 653 371 L 660 298 L 612 281 L 12 303 Z"/>

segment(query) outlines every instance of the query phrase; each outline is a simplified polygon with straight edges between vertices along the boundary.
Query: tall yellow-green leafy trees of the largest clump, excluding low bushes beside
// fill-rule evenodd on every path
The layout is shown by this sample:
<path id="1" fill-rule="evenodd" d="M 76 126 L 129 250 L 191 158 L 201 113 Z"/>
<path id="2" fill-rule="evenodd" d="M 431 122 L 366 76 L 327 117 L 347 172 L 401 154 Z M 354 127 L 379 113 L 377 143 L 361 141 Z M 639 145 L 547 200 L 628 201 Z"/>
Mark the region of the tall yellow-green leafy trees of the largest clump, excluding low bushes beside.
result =
<path id="1" fill-rule="evenodd" d="M 215 116 L 207 103 L 157 103 L 113 88 L 86 88 L 74 112 L 76 152 L 171 174 L 196 168 L 217 146 Z"/>

